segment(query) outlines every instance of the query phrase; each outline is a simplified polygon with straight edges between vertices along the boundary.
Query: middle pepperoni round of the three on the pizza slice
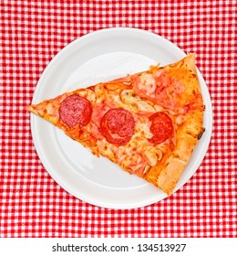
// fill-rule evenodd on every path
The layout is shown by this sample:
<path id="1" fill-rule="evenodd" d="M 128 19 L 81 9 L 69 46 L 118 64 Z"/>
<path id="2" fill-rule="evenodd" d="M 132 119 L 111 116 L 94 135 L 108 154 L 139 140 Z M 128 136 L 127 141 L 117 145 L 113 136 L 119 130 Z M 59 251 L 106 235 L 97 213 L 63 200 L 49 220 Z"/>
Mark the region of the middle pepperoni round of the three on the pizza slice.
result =
<path id="1" fill-rule="evenodd" d="M 100 121 L 100 132 L 108 143 L 125 145 L 134 133 L 135 122 L 132 115 L 121 108 L 110 109 Z"/>

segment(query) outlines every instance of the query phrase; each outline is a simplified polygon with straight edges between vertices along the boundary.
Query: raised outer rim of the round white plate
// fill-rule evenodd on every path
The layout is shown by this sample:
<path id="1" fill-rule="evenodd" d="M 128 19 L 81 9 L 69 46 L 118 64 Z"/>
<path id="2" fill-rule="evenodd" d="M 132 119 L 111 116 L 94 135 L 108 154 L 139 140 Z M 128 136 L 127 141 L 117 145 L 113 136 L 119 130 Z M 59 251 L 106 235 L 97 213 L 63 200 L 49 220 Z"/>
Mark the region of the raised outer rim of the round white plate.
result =
<path id="1" fill-rule="evenodd" d="M 136 31 L 136 32 L 139 32 L 139 33 L 143 33 L 143 34 L 146 34 L 146 35 L 149 35 L 151 37 L 154 37 L 156 39 L 160 39 L 162 40 L 164 43 L 166 44 L 169 44 L 172 48 L 175 47 L 177 50 L 180 51 L 180 53 L 183 54 L 183 56 L 186 56 L 186 54 L 179 48 L 177 47 L 175 44 L 173 44 L 172 42 L 170 42 L 170 40 L 168 40 L 167 38 L 165 37 L 161 37 L 160 35 L 157 35 L 157 34 L 154 34 L 148 30 L 143 30 L 143 29 L 140 29 L 140 28 L 133 28 L 133 27 L 108 27 L 108 28 L 103 28 L 103 29 L 99 29 L 99 30 L 96 30 L 96 31 L 93 31 L 93 32 L 90 32 L 82 37 L 78 37 L 76 38 L 75 40 L 73 40 L 72 42 L 70 42 L 69 44 L 67 44 L 66 47 L 62 48 L 61 50 L 59 50 L 59 52 L 54 56 L 53 59 L 50 60 L 50 62 L 47 64 L 46 66 L 46 69 L 44 69 L 44 71 L 41 73 L 40 75 L 40 78 L 39 80 L 37 81 L 36 83 L 36 89 L 34 91 L 34 95 L 33 95 L 33 100 L 32 100 L 32 103 L 34 103 L 36 101 L 36 98 L 37 98 L 37 94 L 38 94 L 38 91 L 40 89 L 40 84 L 44 81 L 44 77 L 46 76 L 48 70 L 50 70 L 51 66 L 54 64 L 55 61 L 57 61 L 58 58 L 60 58 L 60 56 L 62 56 L 67 50 L 68 48 L 70 47 L 73 47 L 75 44 L 77 44 L 78 42 L 80 42 L 81 40 L 87 40 L 88 37 L 95 37 L 97 36 L 98 34 L 103 34 L 103 33 L 109 33 L 111 31 L 113 32 L 116 32 L 116 31 Z M 196 67 L 197 68 L 197 67 Z M 202 84 L 204 84 L 204 89 L 202 88 L 202 90 L 205 91 L 205 93 L 207 93 L 207 96 L 208 96 L 208 100 L 209 100 L 209 114 L 210 114 L 210 120 L 209 120 L 209 128 L 210 128 L 210 131 L 209 131 L 209 136 L 207 137 L 208 139 L 208 142 L 205 144 L 205 148 L 204 148 L 204 154 L 203 154 L 203 157 L 201 158 L 201 160 L 199 161 L 200 164 L 197 166 L 197 168 L 195 168 L 195 170 L 193 170 L 192 172 L 189 173 L 189 176 L 186 176 L 186 179 L 180 183 L 180 186 L 177 187 L 174 189 L 173 193 L 174 194 L 177 190 L 179 190 L 181 187 L 183 187 L 187 182 L 189 182 L 189 180 L 191 179 L 191 176 L 193 176 L 197 169 L 199 168 L 199 166 L 201 165 L 202 161 L 203 161 L 203 158 L 205 157 L 206 155 L 206 152 L 208 150 L 208 147 L 209 147 L 209 144 L 211 142 L 211 133 L 212 133 L 212 106 L 211 106 L 211 97 L 210 97 L 210 93 L 208 91 L 208 87 L 206 85 L 206 82 L 205 80 L 203 79 L 202 75 L 201 75 L 201 72 L 200 70 L 197 68 L 197 71 L 198 71 L 198 77 L 199 79 L 201 80 Z M 163 193 L 163 195 L 160 196 L 159 199 L 157 200 L 154 200 L 154 199 L 149 199 L 147 200 L 146 202 L 142 202 L 142 203 L 137 203 L 137 204 L 132 204 L 130 206 L 126 205 L 126 206 L 123 206 L 123 205 L 108 205 L 108 203 L 103 203 L 103 202 L 95 202 L 95 200 L 93 199 L 89 199 L 88 197 L 84 197 L 84 195 L 80 195 L 78 197 L 78 195 L 76 195 L 75 192 L 71 191 L 70 187 L 68 187 L 68 184 L 65 183 L 64 181 L 58 179 L 58 176 L 55 175 L 54 172 L 51 171 L 51 168 L 50 166 L 47 164 L 47 161 L 46 161 L 46 158 L 45 156 L 41 153 L 40 149 L 39 149 L 39 144 L 38 144 L 38 138 L 36 138 L 36 133 L 34 133 L 34 130 L 35 130 L 35 120 L 36 120 L 36 116 L 31 113 L 31 117 L 30 117 L 30 123 L 31 123 L 31 133 L 32 133 L 32 137 L 33 137 L 33 142 L 34 142 L 34 145 L 35 145 L 35 148 L 36 148 L 36 153 L 42 163 L 42 165 L 44 165 L 44 167 L 46 168 L 46 172 L 57 182 L 57 184 L 62 187 L 63 189 L 65 189 L 69 194 L 73 195 L 74 197 L 77 197 L 78 199 L 80 200 L 83 200 L 89 204 L 92 204 L 94 206 L 97 206 L 97 207 L 102 207 L 102 208 L 114 208 L 114 209 L 126 209 L 126 208 L 141 208 L 141 207 L 146 207 L 146 206 L 149 206 L 153 203 L 156 203 L 156 202 L 159 202 L 160 200 L 168 197 L 166 194 Z"/>

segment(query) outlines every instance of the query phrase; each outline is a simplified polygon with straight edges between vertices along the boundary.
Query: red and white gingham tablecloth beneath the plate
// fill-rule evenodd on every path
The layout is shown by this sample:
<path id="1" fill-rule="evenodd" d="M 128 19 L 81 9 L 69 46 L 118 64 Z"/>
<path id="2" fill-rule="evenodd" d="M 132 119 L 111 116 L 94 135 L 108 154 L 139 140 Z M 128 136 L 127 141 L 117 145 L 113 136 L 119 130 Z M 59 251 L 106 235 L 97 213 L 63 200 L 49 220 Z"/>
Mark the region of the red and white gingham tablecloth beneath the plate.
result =
<path id="1" fill-rule="evenodd" d="M 236 1 L 1 1 L 1 237 L 236 237 L 235 24 Z M 69 195 L 31 137 L 25 107 L 47 63 L 104 27 L 147 29 L 196 52 L 211 93 L 203 163 L 177 193 L 146 208 L 98 208 Z"/>

